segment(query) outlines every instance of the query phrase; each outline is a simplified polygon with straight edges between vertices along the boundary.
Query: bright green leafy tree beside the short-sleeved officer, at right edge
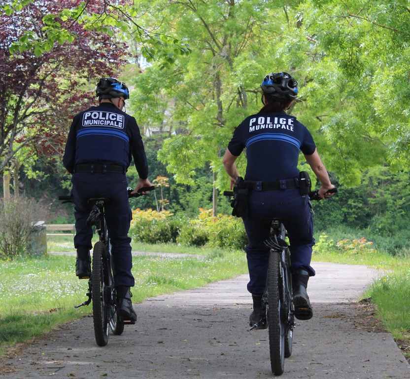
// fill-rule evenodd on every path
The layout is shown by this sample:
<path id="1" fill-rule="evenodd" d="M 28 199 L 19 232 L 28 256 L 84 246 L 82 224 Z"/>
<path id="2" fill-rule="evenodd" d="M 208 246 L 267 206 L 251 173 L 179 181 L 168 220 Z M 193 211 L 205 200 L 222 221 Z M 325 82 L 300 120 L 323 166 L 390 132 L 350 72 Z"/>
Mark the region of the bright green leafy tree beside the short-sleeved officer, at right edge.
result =
<path id="1" fill-rule="evenodd" d="M 408 167 L 407 1 L 305 0 L 289 16 L 296 27 L 274 57 L 298 68 L 295 111 L 324 143 L 326 165 L 353 186 L 369 168 Z"/>

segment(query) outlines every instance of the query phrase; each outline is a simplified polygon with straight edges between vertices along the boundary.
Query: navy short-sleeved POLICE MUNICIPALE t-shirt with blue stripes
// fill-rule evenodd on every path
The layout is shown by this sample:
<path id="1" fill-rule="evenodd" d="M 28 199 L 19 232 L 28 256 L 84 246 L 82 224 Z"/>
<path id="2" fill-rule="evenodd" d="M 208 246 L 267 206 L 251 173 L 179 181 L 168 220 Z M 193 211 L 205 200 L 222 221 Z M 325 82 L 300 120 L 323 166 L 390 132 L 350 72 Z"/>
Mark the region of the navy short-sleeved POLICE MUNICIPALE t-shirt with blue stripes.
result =
<path id="1" fill-rule="evenodd" d="M 228 145 L 239 156 L 246 148 L 245 180 L 276 181 L 299 176 L 299 151 L 315 152 L 313 137 L 296 117 L 285 112 L 259 113 L 245 118 Z"/>

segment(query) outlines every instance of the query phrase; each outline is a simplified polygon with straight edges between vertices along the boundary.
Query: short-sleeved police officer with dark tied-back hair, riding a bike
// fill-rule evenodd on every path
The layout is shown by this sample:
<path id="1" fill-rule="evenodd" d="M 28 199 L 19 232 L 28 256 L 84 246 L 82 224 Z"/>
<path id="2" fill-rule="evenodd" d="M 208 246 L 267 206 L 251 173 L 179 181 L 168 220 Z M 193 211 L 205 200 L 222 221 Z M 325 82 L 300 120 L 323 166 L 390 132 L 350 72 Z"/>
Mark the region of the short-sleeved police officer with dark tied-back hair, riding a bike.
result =
<path id="1" fill-rule="evenodd" d="M 252 294 L 254 309 L 249 317 L 250 326 L 264 317 L 261 300 L 269 260 L 269 248 L 264 241 L 269 237 L 270 225 L 263 220 L 270 217 L 281 218 L 288 232 L 295 317 L 308 320 L 313 314 L 307 293 L 309 276 L 315 275 L 310 266 L 313 221 L 308 195 L 302 195 L 299 189 L 300 151 L 322 185 L 320 197 L 334 188 L 310 132 L 296 117 L 285 112 L 297 97 L 297 81 L 287 73 L 272 73 L 264 78 L 261 88 L 264 107 L 242 121 L 223 158 L 232 189 L 239 176 L 235 160 L 246 148 L 244 179 L 250 190 L 243 223 L 249 242 L 246 247 L 250 278 L 247 288 Z"/>

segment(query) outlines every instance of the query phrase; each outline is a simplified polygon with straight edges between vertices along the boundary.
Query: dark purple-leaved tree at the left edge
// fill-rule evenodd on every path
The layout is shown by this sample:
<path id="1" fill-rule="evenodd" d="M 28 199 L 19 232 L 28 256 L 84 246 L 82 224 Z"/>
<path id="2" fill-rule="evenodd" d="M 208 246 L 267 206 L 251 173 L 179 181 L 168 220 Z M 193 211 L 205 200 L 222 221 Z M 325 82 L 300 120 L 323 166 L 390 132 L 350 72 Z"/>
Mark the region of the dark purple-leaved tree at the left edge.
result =
<path id="1" fill-rule="evenodd" d="M 124 62 L 123 43 L 78 24 L 70 26 L 75 44 L 54 41 L 41 55 L 9 52 L 25 32 L 43 38 L 45 12 L 71 5 L 70 0 L 31 1 L 11 16 L 0 13 L 0 172 L 11 160 L 31 165 L 27 156 L 56 158 L 72 115 L 91 101 L 89 83 L 113 75 Z"/>

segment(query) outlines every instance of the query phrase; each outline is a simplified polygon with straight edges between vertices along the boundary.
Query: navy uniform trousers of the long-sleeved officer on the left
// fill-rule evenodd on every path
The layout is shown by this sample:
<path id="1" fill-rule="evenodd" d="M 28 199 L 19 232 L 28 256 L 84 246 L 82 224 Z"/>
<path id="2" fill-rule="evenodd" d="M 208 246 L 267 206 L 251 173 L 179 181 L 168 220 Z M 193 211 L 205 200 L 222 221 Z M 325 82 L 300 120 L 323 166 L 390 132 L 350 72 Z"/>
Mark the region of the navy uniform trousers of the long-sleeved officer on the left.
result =
<path id="1" fill-rule="evenodd" d="M 72 176 L 71 183 L 75 205 L 74 247 L 84 245 L 92 248 L 93 229 L 86 224 L 92 207 L 87 200 L 91 197 L 109 198 L 110 202 L 105 206 L 105 219 L 115 267 L 114 285 L 133 287 L 131 238 L 128 236 L 132 213 L 126 176 L 119 173 L 79 172 Z"/>

